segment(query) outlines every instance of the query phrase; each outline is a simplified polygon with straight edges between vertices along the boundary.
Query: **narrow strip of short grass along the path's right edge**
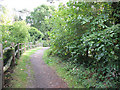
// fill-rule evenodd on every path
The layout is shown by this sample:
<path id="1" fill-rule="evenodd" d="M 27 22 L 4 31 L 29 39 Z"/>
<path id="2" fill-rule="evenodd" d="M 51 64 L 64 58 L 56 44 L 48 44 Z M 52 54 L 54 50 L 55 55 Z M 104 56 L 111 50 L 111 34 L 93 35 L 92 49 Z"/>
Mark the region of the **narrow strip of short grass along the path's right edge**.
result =
<path id="1" fill-rule="evenodd" d="M 84 88 L 80 85 L 75 75 L 70 74 L 70 71 L 66 69 L 66 62 L 63 62 L 62 59 L 57 56 L 49 56 L 49 49 L 45 51 L 43 60 L 56 70 L 58 76 L 64 79 L 69 88 Z"/>

